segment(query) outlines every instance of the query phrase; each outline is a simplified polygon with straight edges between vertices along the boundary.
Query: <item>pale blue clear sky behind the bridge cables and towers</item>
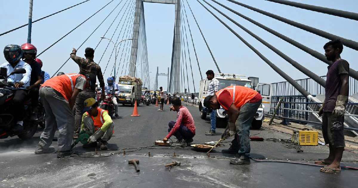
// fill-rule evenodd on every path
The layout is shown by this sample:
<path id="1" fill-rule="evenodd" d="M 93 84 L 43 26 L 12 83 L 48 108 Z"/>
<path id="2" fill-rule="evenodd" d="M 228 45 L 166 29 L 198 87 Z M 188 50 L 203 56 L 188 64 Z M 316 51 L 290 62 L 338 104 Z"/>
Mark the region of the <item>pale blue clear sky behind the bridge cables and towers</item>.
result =
<path id="1" fill-rule="evenodd" d="M 73 0 L 73 1 L 48 1 L 48 0 L 34 0 L 33 6 L 33 20 L 52 14 L 58 10 L 62 10 L 71 5 L 82 2 L 83 0 Z M 182 0 L 183 1 L 183 0 Z M 244 43 L 241 42 L 234 34 L 232 34 L 227 28 L 225 28 L 218 20 L 216 20 L 207 10 L 205 10 L 197 0 L 188 0 L 191 8 L 193 9 L 194 15 L 197 18 L 197 21 L 200 25 L 200 28 L 203 31 L 205 38 L 213 52 L 218 66 L 223 73 L 234 73 L 241 74 L 246 76 L 259 77 L 260 82 L 264 83 L 273 83 L 284 81 L 273 69 L 271 69 L 261 58 L 259 58 L 251 49 L 249 49 Z M 200 0 L 201 1 L 201 0 Z M 281 40 L 280 38 L 266 32 L 265 30 L 259 28 L 258 26 L 242 19 L 240 16 L 237 16 L 228 10 L 222 8 L 221 6 L 216 5 L 213 1 L 207 0 L 209 3 L 216 6 L 219 10 L 223 11 L 225 14 L 229 15 L 232 19 L 236 20 L 238 23 L 245 26 L 251 32 L 260 36 L 270 44 L 274 45 L 277 49 L 281 50 L 283 53 L 290 56 L 296 62 L 302 64 L 306 68 L 310 69 L 319 76 L 326 74 L 327 65 L 318 59 L 310 56 L 309 54 L 303 52 L 302 50 L 292 46 L 291 44 Z M 295 28 L 294 26 L 282 23 L 281 21 L 272 19 L 268 16 L 256 13 L 255 11 L 243 8 L 239 5 L 230 3 L 226 0 L 218 0 L 219 2 L 229 6 L 230 8 L 240 12 L 243 15 L 250 17 L 274 30 L 280 32 L 287 37 L 290 37 L 318 52 L 324 53 L 323 45 L 328 42 L 328 39 L 319 37 L 318 35 L 306 32 L 304 30 Z M 350 40 L 358 41 L 357 21 L 340 18 L 337 16 L 317 13 L 314 11 L 303 10 L 291 6 L 281 5 L 277 3 L 272 3 L 265 0 L 238 0 L 241 3 L 253 6 L 258 9 L 268 11 L 280 15 L 282 17 L 303 23 L 309 26 L 312 26 L 317 29 L 324 30 L 326 32 L 338 35 L 343 38 Z M 328 8 L 334 8 L 339 10 L 351 11 L 358 13 L 358 6 L 356 0 L 344 0 L 344 1 L 334 1 L 334 0 L 292 0 L 300 3 L 324 6 Z M 28 20 L 28 1 L 21 0 L 19 1 L 0 1 L 0 33 L 13 29 L 17 26 L 27 23 Z M 56 40 L 61 38 L 63 35 L 68 33 L 70 30 L 75 28 L 79 23 L 87 19 L 97 10 L 102 8 L 107 4 L 109 0 L 91 0 L 84 4 L 81 4 L 75 8 L 66 10 L 57 15 L 51 16 L 47 19 L 38 21 L 33 24 L 32 30 L 32 44 L 34 44 L 38 52 L 42 52 L 45 48 L 49 47 Z M 98 14 L 89 19 L 86 23 L 79 26 L 74 32 L 67 35 L 60 42 L 55 44 L 49 50 L 44 52 L 39 58 L 42 59 L 44 65 L 43 70 L 54 74 L 57 69 L 68 59 L 69 54 L 72 51 L 72 48 L 78 48 L 79 45 L 88 37 L 89 34 L 100 24 L 103 19 L 112 11 L 115 6 L 120 2 L 120 0 L 114 0 L 110 5 L 100 11 Z M 86 47 L 96 47 L 97 43 L 100 41 L 100 37 L 106 32 L 110 24 L 112 23 L 115 16 L 118 14 L 118 11 L 122 9 L 121 13 L 118 15 L 117 20 L 113 23 L 111 28 L 108 30 L 105 37 L 111 38 L 113 32 L 115 31 L 117 25 L 118 29 L 113 36 L 113 40 L 124 39 L 127 37 L 128 31 L 126 28 L 131 28 L 132 16 L 134 12 L 132 3 L 133 0 L 123 0 L 122 3 L 113 11 L 113 13 L 103 22 L 103 24 L 96 30 L 95 33 L 87 40 L 84 45 L 78 49 L 78 56 L 83 56 L 84 49 Z M 201 1 L 203 2 L 203 1 Z M 344 3 L 342 3 L 344 2 Z M 184 2 L 183 2 L 184 3 Z M 127 9 L 127 4 L 131 4 L 130 8 Z M 203 3 L 206 5 L 205 3 Z M 14 7 L 16 9 L 14 9 Z M 203 38 L 201 37 L 198 27 L 195 24 L 193 16 L 188 9 L 188 6 L 185 2 L 185 8 L 188 15 L 189 25 L 192 30 L 193 40 L 195 48 L 198 54 L 199 64 L 202 71 L 202 76 L 205 78 L 205 72 L 208 69 L 212 69 L 214 72 L 218 72 L 217 68 L 209 54 L 209 51 L 204 43 Z M 211 9 L 211 8 L 210 8 Z M 125 11 L 127 10 L 127 11 Z M 211 9 L 213 10 L 213 9 Z M 255 38 L 251 37 L 242 29 L 238 28 L 236 25 L 231 23 L 229 20 L 221 16 L 215 10 L 213 10 L 216 15 L 224 20 L 228 25 L 230 25 L 239 35 L 241 35 L 245 40 L 252 44 L 256 49 L 258 49 L 265 57 L 267 57 L 271 62 L 275 63 L 276 66 L 284 70 L 289 76 L 294 79 L 306 78 L 306 76 L 295 69 L 291 64 L 286 62 L 284 59 L 279 57 L 269 48 L 265 47 L 263 44 L 258 42 Z M 172 52 L 172 43 L 173 43 L 173 28 L 174 28 L 174 18 L 175 18 L 175 6 L 168 4 L 157 4 L 157 3 L 144 3 L 144 14 L 145 14 L 145 23 L 146 23 L 146 38 L 147 38 L 147 49 L 148 49 L 148 59 L 150 67 L 150 78 L 151 85 L 154 85 L 154 78 L 156 73 L 156 67 L 159 67 L 159 73 L 166 73 L 167 67 L 170 67 L 171 63 L 171 52 Z M 122 18 L 123 16 L 123 18 Z M 118 21 L 122 18 L 122 21 L 118 24 Z M 127 18 L 127 19 L 126 19 Z M 27 27 L 18 29 L 14 32 L 8 33 L 6 35 L 0 36 L 0 46 L 5 47 L 7 44 L 23 44 L 27 39 Z M 122 32 L 120 32 L 122 30 Z M 187 28 L 188 32 L 188 28 Z M 118 35 L 120 33 L 120 35 Z M 190 39 L 190 34 L 188 34 L 189 50 L 192 60 L 192 69 L 194 75 L 194 84 L 195 90 L 198 92 L 200 74 L 195 59 L 194 50 L 192 48 L 192 43 Z M 131 37 L 131 34 L 130 34 Z M 105 48 L 107 46 L 107 41 L 102 41 L 95 52 L 95 62 L 99 62 Z M 118 57 L 122 55 L 122 50 L 126 49 L 124 46 L 118 46 Z M 110 44 L 103 59 L 100 62 L 102 71 L 104 71 L 110 54 L 113 49 L 113 44 Z M 124 50 L 125 51 L 125 50 Z M 188 52 L 187 52 L 188 53 Z M 125 57 L 128 54 L 123 53 L 122 61 L 120 64 L 120 70 L 122 71 L 123 63 L 126 63 Z M 350 63 L 350 68 L 355 70 L 358 69 L 357 63 L 355 63 L 358 52 L 356 50 L 344 47 L 342 58 L 346 59 Z M 188 54 L 187 54 L 188 56 Z M 188 59 L 188 58 L 187 58 Z M 0 57 L 0 62 L 6 62 L 3 56 Z M 107 70 L 104 74 L 105 78 L 110 76 L 110 71 L 114 63 L 114 58 L 110 59 L 108 63 Z M 189 90 L 190 92 L 194 91 L 193 81 L 190 72 L 190 64 L 188 64 L 188 75 L 189 75 Z M 125 66 L 125 65 L 124 65 Z M 109 69 L 109 70 L 108 70 Z M 65 73 L 76 73 L 78 72 L 78 66 L 72 60 L 68 61 L 63 68 L 60 70 Z M 123 71 L 123 74 L 125 71 Z M 186 76 L 186 72 L 185 72 Z M 167 78 L 159 77 L 158 87 L 163 86 L 166 90 Z M 185 82 L 185 88 L 188 88 L 188 83 Z"/>

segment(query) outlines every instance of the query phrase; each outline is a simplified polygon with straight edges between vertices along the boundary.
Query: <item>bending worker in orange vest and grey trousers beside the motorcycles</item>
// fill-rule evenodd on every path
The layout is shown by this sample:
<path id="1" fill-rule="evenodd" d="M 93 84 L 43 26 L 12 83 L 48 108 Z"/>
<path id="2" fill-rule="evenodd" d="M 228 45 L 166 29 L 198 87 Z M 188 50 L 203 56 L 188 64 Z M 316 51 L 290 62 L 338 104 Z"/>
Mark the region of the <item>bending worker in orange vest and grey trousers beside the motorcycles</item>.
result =
<path id="1" fill-rule="evenodd" d="M 82 74 L 63 74 L 53 77 L 40 87 L 40 99 L 45 110 L 45 129 L 35 154 L 51 153 L 49 148 L 58 129 L 57 157 L 71 155 L 74 130 L 73 105 L 80 91 L 90 86 L 89 77 Z"/>

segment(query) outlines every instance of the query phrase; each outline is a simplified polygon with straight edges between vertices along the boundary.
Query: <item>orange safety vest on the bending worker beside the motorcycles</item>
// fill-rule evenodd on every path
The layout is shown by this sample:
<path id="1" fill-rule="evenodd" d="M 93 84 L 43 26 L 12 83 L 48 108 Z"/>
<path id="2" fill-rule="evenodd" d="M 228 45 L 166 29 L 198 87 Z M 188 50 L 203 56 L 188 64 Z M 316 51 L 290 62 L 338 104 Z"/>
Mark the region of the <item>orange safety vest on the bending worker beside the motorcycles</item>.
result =
<path id="1" fill-rule="evenodd" d="M 76 79 L 79 76 L 84 77 L 82 74 L 63 74 L 61 76 L 56 76 L 44 82 L 41 87 L 51 87 L 60 92 L 62 96 L 69 101 L 72 96 L 74 86 L 76 85 Z"/>

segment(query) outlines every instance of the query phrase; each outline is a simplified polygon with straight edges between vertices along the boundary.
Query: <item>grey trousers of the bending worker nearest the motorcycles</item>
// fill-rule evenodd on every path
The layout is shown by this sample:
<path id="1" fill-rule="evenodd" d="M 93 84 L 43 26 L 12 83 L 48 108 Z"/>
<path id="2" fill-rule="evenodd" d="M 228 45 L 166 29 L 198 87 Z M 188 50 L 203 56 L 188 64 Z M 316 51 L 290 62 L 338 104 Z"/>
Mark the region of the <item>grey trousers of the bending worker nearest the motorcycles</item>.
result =
<path id="1" fill-rule="evenodd" d="M 71 150 L 74 117 L 68 101 L 51 87 L 40 88 L 40 98 L 45 110 L 45 129 L 40 136 L 39 145 L 48 148 L 58 128 L 58 151 Z"/>

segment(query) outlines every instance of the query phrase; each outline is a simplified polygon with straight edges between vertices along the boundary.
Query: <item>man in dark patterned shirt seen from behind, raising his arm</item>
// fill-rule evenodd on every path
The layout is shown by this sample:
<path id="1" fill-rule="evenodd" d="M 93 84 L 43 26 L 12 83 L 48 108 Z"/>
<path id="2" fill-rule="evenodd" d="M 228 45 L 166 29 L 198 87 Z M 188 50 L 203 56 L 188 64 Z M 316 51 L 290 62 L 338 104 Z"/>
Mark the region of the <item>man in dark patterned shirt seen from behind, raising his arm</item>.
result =
<path id="1" fill-rule="evenodd" d="M 81 127 L 81 120 L 82 120 L 82 114 L 83 114 L 83 103 L 87 98 L 96 98 L 96 77 L 98 78 L 98 81 L 100 82 L 100 87 L 102 88 L 102 91 L 105 91 L 105 81 L 103 79 L 103 74 L 101 71 L 101 67 L 93 61 L 93 57 L 95 54 L 95 50 L 92 48 L 86 48 L 84 50 L 84 57 L 86 59 L 76 56 L 77 50 L 72 49 L 71 58 L 74 62 L 78 64 L 79 67 L 79 74 L 83 75 L 89 75 L 91 82 L 93 85 L 91 88 L 87 88 L 86 90 L 82 91 L 78 94 L 77 100 L 76 100 L 76 109 L 75 109 L 75 126 L 74 126 L 74 137 L 75 139 L 78 138 L 78 133 Z M 104 100 L 106 97 L 106 93 L 102 92 L 101 98 Z"/>

